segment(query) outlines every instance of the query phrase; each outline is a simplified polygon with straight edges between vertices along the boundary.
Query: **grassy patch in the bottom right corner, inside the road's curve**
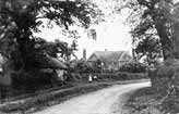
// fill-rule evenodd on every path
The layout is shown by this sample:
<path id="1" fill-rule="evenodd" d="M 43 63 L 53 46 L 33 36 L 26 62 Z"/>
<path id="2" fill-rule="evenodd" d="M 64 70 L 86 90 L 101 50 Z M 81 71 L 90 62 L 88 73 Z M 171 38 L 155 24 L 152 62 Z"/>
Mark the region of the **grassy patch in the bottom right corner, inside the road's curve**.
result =
<path id="1" fill-rule="evenodd" d="M 179 96 L 142 88 L 130 96 L 122 114 L 179 114 Z"/>

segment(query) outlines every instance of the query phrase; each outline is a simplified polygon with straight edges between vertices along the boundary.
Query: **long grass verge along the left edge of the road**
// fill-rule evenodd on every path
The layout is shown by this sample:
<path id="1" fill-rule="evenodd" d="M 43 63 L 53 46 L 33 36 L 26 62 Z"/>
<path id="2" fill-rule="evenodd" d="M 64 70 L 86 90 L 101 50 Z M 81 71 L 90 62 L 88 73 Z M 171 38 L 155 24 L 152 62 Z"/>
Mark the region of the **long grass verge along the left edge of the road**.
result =
<path id="1" fill-rule="evenodd" d="M 59 104 L 72 97 L 96 91 L 112 85 L 124 85 L 124 84 L 139 83 L 139 81 L 146 81 L 146 79 L 130 80 L 130 81 L 102 81 L 102 83 L 92 83 L 85 85 L 79 84 L 79 86 L 76 87 L 39 93 L 25 99 L 23 102 L 8 103 L 5 105 L 0 106 L 0 113 L 32 114 L 33 112 L 40 111 L 43 109 L 46 109 L 47 106 Z"/>

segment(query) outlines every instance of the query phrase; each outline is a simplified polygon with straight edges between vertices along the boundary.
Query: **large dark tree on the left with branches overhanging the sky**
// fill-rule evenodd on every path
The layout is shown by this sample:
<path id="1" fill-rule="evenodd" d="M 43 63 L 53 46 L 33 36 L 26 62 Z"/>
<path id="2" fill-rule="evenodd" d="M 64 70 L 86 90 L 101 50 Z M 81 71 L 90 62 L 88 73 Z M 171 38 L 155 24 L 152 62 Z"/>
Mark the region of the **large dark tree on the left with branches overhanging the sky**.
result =
<path id="1" fill-rule="evenodd" d="M 31 71 L 36 64 L 29 65 L 29 60 L 33 60 L 34 55 L 39 59 L 44 56 L 41 48 L 46 49 L 45 53 L 56 56 L 58 46 L 62 55 L 69 55 L 70 51 L 67 51 L 64 42 L 47 43 L 40 39 L 37 48 L 38 41 L 33 33 L 39 33 L 39 26 L 45 22 L 48 22 L 48 27 L 55 23 L 68 29 L 70 25 L 77 23 L 86 28 L 91 24 L 91 15 L 95 17 L 93 7 L 95 5 L 81 0 L 1 0 L 0 53 L 5 59 L 3 74 L 10 76 L 10 71 Z"/>

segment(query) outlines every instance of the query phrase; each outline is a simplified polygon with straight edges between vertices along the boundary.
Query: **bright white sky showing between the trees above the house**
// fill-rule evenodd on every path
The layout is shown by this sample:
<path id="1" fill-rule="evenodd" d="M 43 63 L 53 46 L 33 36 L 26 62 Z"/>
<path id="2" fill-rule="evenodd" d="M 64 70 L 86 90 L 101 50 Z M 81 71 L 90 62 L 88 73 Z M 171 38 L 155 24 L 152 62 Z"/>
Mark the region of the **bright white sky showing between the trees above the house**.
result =
<path id="1" fill-rule="evenodd" d="M 108 14 L 110 14 L 114 8 L 114 2 L 111 0 L 95 0 L 99 8 Z M 108 2 L 108 3 L 106 3 Z M 86 49 L 86 56 L 88 58 L 94 51 L 129 51 L 131 53 L 131 42 L 132 38 L 129 34 L 130 28 L 126 22 L 126 16 L 128 12 L 122 12 L 121 14 L 112 14 L 107 17 L 107 21 L 99 23 L 98 25 L 93 25 L 90 28 L 96 29 L 97 39 L 90 39 L 85 29 L 77 28 L 81 38 L 77 39 L 79 51 L 75 52 L 79 59 L 83 56 L 83 49 Z M 41 28 L 41 33 L 36 36 L 48 38 L 46 40 L 53 41 L 60 38 L 60 40 L 72 42 L 72 38 L 64 38 L 60 33 L 59 27 L 53 27 L 52 29 Z"/>

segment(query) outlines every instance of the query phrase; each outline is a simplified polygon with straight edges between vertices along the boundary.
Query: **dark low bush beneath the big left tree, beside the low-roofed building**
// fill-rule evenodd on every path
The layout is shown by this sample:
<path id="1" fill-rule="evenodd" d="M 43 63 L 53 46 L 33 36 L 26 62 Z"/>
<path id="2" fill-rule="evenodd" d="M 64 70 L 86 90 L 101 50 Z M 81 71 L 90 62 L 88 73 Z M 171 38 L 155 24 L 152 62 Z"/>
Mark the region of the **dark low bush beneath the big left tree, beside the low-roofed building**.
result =
<path id="1" fill-rule="evenodd" d="M 57 74 L 40 71 L 12 74 L 12 89 L 20 92 L 34 92 L 51 87 L 57 80 Z"/>

